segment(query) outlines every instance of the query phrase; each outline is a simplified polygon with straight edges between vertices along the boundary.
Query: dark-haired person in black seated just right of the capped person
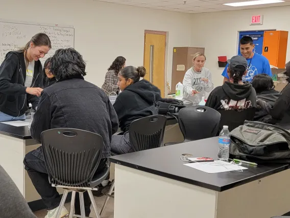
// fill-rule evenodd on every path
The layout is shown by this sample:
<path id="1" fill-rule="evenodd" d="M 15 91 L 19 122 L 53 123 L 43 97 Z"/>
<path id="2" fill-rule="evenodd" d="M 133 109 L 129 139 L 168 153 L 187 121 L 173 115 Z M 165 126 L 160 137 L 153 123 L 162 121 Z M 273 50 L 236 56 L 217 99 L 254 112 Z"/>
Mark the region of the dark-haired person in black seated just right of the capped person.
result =
<path id="1" fill-rule="evenodd" d="M 257 93 L 257 99 L 267 102 L 272 107 L 281 95 L 278 91 L 274 90 L 274 82 L 268 74 L 258 74 L 254 76 L 252 86 Z M 269 117 L 270 115 L 258 105 L 254 121 L 264 122 L 268 120 Z"/>

